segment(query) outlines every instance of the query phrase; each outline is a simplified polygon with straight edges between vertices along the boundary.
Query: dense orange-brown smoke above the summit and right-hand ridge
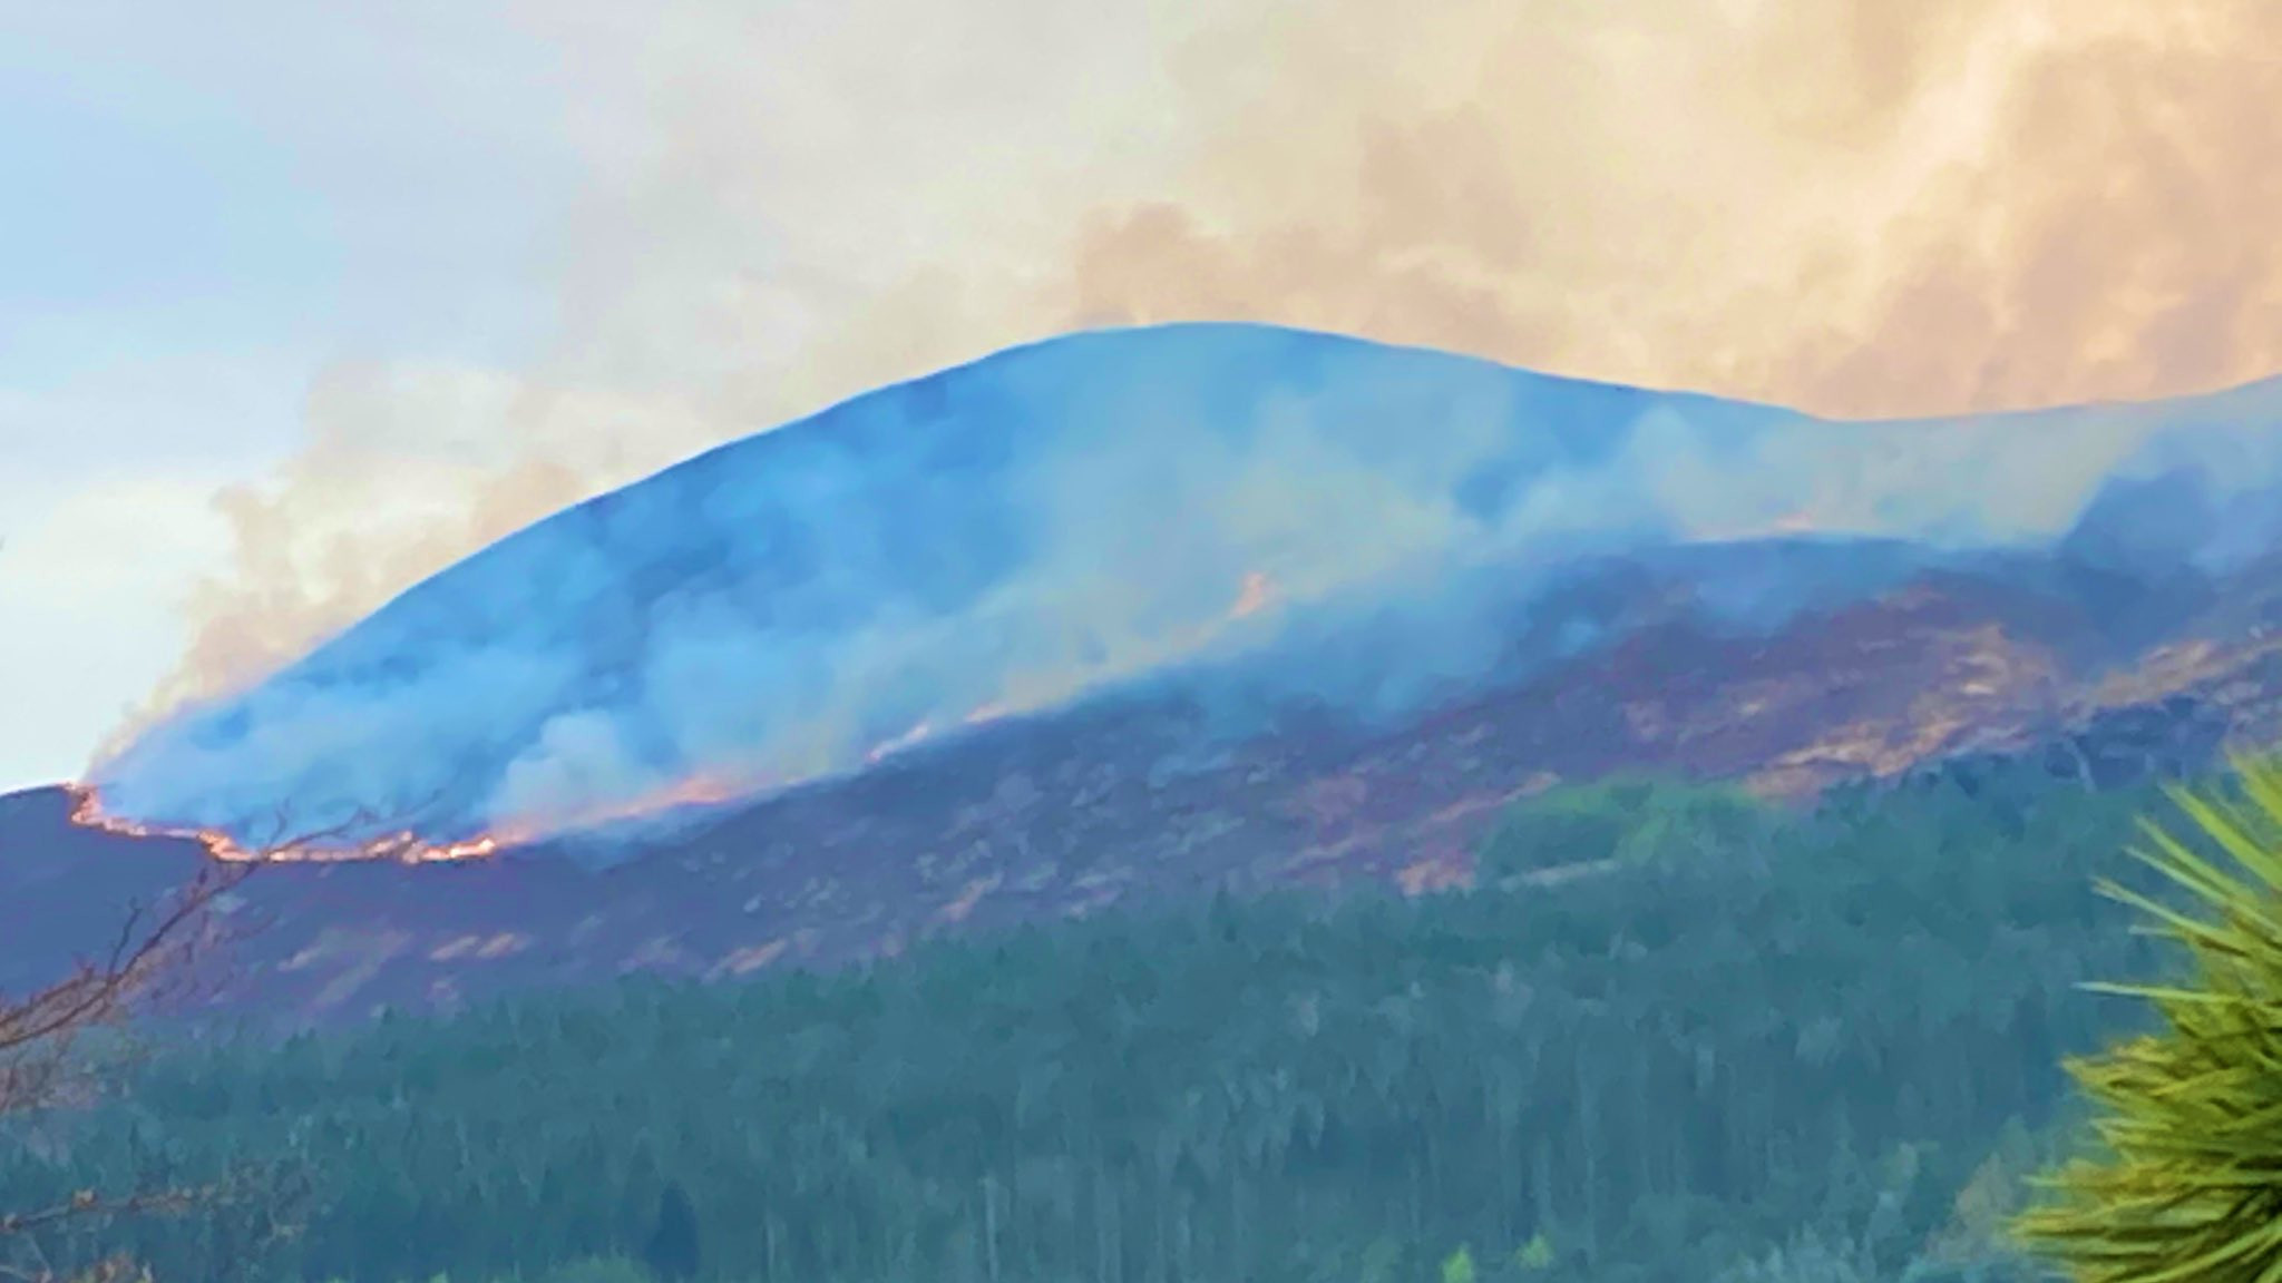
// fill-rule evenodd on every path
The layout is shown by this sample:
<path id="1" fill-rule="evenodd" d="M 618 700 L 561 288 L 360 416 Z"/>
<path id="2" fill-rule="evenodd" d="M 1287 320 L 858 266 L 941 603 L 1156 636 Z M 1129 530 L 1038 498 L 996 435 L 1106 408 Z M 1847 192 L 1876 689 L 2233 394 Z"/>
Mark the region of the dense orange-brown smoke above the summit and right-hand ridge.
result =
<path id="1" fill-rule="evenodd" d="M 1285 23 L 1262 48 L 1292 62 L 1260 110 L 1219 105 L 1196 189 L 1089 219 L 1082 317 L 1280 320 L 1837 415 L 2150 397 L 2282 358 L 2264 0 Z M 1406 57 L 1406 23 L 1445 39 Z"/>

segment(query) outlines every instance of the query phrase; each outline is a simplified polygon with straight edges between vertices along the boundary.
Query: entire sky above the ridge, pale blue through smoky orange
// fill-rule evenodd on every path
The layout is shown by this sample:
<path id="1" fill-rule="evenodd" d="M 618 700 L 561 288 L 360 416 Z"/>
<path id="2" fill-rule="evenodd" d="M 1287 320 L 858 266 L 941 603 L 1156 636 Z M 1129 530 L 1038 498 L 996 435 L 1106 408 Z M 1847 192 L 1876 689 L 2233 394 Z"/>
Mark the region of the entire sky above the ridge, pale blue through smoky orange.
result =
<path id="1" fill-rule="evenodd" d="M 2268 0 L 0 0 L 0 790 L 1050 333 L 1917 415 L 2282 370 Z"/>

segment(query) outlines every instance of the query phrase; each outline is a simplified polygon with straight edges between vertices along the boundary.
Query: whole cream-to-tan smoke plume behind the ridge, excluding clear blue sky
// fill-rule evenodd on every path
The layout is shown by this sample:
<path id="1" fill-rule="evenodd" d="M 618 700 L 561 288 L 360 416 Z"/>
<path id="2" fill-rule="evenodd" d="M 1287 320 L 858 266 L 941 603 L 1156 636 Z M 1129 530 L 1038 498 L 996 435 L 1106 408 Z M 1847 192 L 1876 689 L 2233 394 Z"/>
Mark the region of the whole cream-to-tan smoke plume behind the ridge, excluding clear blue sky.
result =
<path id="1" fill-rule="evenodd" d="M 523 23 L 575 87 L 550 126 L 591 176 L 561 212 L 552 345 L 319 379 L 308 450 L 224 498 L 237 557 L 151 715 L 568 500 L 1070 326 L 1282 322 L 1837 415 L 2282 365 L 2266 0 L 671 0 Z"/>

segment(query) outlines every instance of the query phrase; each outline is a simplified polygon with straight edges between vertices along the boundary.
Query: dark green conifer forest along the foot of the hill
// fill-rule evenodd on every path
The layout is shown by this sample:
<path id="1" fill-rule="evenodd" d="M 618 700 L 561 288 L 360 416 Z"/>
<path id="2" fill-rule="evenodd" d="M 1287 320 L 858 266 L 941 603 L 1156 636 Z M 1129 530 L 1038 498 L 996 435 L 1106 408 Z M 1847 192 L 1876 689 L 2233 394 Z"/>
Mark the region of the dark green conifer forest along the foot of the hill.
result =
<path id="1" fill-rule="evenodd" d="M 2010 1278 L 2058 1062 L 2136 1016 L 2077 984 L 2159 966 L 2093 881 L 2161 808 L 2031 769 L 1814 815 L 1556 792 L 1472 893 L 183 1050 L 0 1137 L 0 1205 L 308 1173 L 260 1260 L 123 1226 L 171 1283 Z"/>

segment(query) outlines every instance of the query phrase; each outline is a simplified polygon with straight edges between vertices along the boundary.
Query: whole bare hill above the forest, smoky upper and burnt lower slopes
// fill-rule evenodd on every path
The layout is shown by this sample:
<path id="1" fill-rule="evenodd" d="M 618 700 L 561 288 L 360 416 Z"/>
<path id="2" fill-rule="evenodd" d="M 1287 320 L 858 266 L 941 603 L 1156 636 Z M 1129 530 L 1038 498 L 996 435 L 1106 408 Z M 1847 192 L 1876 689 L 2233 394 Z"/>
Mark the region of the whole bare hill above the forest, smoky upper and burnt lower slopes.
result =
<path id="1" fill-rule="evenodd" d="M 1257 326 L 1018 349 L 539 523 L 100 794 L 0 799 L 0 986 L 278 815 L 495 849 L 246 883 L 237 998 L 338 1018 L 1454 886 L 1515 799 L 1625 769 L 2198 769 L 2282 737 L 2277 409 L 1826 425 Z M 532 753 L 568 792 L 507 815 Z"/>

